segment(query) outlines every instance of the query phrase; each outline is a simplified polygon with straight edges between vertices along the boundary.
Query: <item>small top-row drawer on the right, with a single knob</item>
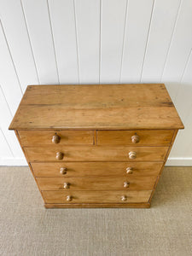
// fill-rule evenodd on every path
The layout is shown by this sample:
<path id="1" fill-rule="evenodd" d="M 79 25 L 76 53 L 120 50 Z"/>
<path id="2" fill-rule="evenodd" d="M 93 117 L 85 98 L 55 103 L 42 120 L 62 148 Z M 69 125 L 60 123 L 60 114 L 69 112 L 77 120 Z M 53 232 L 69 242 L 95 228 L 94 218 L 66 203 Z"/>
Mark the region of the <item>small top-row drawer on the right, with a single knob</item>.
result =
<path id="1" fill-rule="evenodd" d="M 174 130 L 97 131 L 98 145 L 169 145 Z"/>

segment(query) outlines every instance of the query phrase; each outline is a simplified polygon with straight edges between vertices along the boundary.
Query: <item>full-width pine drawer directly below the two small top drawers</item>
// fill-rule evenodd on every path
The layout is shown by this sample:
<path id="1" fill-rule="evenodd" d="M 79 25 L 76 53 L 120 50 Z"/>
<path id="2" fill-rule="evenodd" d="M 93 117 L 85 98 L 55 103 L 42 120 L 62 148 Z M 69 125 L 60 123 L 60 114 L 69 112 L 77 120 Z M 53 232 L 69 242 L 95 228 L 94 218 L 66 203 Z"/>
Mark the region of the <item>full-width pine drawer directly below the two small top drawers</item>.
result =
<path id="1" fill-rule="evenodd" d="M 24 148 L 29 161 L 161 161 L 168 147 L 55 146 Z M 134 155 L 133 155 L 134 153 Z M 133 157 L 134 158 L 131 158 Z"/>

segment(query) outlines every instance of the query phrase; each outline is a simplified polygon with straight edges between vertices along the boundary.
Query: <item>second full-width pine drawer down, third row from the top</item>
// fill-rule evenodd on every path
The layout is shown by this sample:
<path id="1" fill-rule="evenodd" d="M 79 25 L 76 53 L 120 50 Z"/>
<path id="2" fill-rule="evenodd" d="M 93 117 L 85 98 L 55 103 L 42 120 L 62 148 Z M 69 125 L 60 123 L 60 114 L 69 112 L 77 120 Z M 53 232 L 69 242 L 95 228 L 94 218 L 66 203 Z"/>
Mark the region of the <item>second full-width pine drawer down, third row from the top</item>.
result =
<path id="1" fill-rule="evenodd" d="M 36 177 L 158 176 L 163 162 L 31 163 Z"/>

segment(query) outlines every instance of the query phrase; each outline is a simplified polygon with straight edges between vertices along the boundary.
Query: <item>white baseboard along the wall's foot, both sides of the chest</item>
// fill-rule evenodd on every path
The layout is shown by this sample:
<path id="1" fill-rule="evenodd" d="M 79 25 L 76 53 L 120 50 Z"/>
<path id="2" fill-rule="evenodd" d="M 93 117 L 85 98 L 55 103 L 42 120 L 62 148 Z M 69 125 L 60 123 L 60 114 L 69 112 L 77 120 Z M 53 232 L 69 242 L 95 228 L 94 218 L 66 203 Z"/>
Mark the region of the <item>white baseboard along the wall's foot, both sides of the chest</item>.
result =
<path id="1" fill-rule="evenodd" d="M 0 158 L 0 166 L 27 166 L 25 158 Z M 172 157 L 166 166 L 192 166 L 192 157 Z"/>

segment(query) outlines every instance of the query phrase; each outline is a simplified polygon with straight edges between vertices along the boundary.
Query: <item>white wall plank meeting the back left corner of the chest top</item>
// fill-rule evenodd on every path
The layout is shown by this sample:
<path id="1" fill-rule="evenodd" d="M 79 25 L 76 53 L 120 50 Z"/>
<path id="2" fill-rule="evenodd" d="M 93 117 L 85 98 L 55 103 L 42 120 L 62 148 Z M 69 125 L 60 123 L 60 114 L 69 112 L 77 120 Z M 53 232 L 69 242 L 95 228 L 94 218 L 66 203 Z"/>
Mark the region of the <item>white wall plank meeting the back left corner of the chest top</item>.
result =
<path id="1" fill-rule="evenodd" d="M 31 84 L 38 84 L 38 74 L 20 0 L 0 0 L 0 10 L 3 29 L 20 79 L 20 86 L 25 91 L 29 81 Z"/>

